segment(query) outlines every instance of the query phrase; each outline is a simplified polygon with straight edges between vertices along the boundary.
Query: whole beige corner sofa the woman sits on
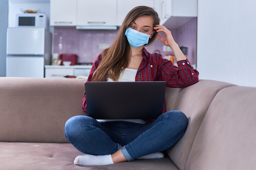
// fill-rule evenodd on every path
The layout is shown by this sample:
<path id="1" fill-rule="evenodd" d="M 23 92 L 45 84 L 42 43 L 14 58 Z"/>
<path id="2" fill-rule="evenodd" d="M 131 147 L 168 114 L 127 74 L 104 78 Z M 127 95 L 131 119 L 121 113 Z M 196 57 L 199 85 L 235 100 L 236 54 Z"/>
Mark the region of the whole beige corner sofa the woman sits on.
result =
<path id="1" fill-rule="evenodd" d="M 256 88 L 200 80 L 166 89 L 168 110 L 189 117 L 163 159 L 80 167 L 64 124 L 84 115 L 85 79 L 0 77 L 0 170 L 254 170 Z"/>

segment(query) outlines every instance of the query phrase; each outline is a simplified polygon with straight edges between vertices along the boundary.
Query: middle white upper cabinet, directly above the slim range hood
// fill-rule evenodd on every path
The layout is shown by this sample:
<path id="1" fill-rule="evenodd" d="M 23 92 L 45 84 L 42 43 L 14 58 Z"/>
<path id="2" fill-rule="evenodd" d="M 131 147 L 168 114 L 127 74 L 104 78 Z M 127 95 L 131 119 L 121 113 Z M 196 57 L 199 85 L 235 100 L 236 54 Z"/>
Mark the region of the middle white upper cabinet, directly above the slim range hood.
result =
<path id="1" fill-rule="evenodd" d="M 77 0 L 77 25 L 116 26 L 117 0 Z"/>

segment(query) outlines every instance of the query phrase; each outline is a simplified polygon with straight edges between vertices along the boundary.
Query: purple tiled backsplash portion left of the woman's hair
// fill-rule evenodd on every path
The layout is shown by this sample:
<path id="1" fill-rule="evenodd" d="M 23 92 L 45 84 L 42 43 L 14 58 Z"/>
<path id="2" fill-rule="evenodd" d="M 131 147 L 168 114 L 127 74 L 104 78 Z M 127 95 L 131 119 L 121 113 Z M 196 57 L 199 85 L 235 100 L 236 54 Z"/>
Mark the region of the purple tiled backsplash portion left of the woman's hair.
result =
<path id="1" fill-rule="evenodd" d="M 78 30 L 74 27 L 54 28 L 54 53 L 75 53 L 77 62 L 94 62 L 102 49 L 99 43 L 112 44 L 117 30 L 92 31 Z"/>

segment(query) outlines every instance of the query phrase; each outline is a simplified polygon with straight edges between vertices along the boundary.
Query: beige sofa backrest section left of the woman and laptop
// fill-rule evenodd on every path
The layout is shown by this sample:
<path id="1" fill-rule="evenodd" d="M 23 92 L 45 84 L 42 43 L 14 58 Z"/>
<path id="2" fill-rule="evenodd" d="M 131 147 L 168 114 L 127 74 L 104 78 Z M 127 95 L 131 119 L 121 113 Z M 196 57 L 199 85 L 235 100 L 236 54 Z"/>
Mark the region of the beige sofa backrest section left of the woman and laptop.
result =
<path id="1" fill-rule="evenodd" d="M 84 115 L 85 81 L 0 77 L 0 141 L 68 142 L 65 122 Z"/>

